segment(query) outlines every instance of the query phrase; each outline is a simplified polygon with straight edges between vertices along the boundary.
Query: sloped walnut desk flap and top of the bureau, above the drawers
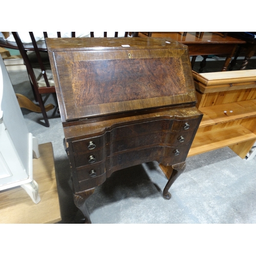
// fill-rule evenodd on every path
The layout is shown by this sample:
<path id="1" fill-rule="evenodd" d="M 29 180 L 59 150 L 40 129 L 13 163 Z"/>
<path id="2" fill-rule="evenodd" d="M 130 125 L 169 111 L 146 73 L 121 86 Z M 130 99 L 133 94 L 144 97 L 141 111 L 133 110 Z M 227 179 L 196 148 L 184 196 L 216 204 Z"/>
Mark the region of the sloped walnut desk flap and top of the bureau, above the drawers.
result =
<path id="1" fill-rule="evenodd" d="M 187 47 L 169 38 L 47 38 L 62 122 L 196 102 Z"/>

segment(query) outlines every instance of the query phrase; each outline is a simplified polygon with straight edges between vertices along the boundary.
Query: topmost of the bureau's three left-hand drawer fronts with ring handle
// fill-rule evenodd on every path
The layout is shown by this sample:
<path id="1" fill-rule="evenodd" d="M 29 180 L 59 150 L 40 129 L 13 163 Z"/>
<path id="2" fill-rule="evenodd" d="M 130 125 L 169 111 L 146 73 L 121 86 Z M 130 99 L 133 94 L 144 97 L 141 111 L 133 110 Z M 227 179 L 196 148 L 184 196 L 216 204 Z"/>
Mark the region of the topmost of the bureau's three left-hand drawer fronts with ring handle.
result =
<path id="1" fill-rule="evenodd" d="M 74 153 L 86 153 L 99 150 L 105 145 L 105 136 L 101 135 L 84 140 L 77 140 L 72 142 Z"/>

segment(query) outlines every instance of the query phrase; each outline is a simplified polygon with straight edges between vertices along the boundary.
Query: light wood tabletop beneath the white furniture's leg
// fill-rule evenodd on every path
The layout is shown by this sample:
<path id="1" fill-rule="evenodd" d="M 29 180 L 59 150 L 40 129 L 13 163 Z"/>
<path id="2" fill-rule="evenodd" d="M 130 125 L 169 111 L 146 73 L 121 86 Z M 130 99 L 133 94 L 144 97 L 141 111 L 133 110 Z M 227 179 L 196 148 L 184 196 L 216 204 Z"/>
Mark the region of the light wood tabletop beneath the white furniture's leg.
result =
<path id="1" fill-rule="evenodd" d="M 41 201 L 34 204 L 21 187 L 0 192 L 0 223 L 56 223 L 61 220 L 52 144 L 39 145 L 40 158 L 33 159 L 33 176 Z"/>

